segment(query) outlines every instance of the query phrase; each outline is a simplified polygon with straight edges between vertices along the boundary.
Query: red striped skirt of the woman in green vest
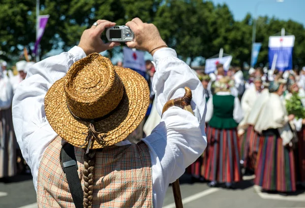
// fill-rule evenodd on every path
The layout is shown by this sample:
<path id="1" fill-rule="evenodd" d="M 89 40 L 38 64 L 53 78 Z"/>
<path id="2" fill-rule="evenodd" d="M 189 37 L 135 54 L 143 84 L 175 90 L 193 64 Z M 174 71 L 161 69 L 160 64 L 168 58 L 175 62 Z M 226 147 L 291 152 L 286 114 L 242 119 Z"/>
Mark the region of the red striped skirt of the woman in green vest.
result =
<path id="1" fill-rule="evenodd" d="M 236 129 L 207 127 L 207 148 L 201 175 L 209 181 L 241 181 L 239 145 Z"/>

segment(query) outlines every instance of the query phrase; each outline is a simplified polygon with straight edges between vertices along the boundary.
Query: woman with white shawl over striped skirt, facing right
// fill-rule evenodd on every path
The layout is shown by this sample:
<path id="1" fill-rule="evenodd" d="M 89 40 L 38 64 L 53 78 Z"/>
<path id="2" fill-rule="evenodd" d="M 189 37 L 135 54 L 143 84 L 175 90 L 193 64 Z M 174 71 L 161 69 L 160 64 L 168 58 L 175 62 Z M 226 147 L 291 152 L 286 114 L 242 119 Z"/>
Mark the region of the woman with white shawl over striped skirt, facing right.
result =
<path id="1" fill-rule="evenodd" d="M 283 79 L 270 82 L 269 93 L 262 93 L 255 103 L 260 108 L 252 110 L 256 115 L 254 130 L 260 134 L 254 182 L 264 191 L 296 190 L 293 133 L 289 126 L 294 115 L 287 114 L 281 99 L 285 84 Z"/>

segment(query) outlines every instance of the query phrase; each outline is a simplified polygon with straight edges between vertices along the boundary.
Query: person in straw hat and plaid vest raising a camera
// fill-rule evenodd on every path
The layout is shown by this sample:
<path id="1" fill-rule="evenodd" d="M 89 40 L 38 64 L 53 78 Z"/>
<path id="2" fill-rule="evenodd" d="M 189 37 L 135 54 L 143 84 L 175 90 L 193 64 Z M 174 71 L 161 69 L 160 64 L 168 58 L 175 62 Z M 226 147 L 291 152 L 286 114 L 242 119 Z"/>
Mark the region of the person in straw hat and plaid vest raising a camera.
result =
<path id="1" fill-rule="evenodd" d="M 149 90 L 142 76 L 98 54 L 119 45 L 100 39 L 114 25 L 98 20 L 83 32 L 78 46 L 34 64 L 18 86 L 14 127 L 39 207 L 162 207 L 168 185 L 206 147 L 202 84 L 167 48 L 157 27 L 139 18 L 126 24 L 136 36 L 127 45 L 154 57 L 158 112 L 189 87 L 195 116 L 170 107 L 148 137 L 129 142 L 145 116 Z M 67 155 L 72 155 L 69 161 Z M 69 168 L 77 171 L 73 183 Z"/>

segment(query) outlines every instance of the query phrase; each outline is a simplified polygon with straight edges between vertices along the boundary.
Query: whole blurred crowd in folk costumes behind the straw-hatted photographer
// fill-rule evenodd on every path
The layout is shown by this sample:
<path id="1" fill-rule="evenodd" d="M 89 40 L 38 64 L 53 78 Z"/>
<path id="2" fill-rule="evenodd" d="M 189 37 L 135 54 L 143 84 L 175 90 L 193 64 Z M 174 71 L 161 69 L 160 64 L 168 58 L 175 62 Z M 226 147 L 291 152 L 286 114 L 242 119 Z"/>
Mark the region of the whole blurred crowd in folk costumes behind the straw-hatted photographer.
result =
<path id="1" fill-rule="evenodd" d="M 12 98 L 17 85 L 34 62 L 18 61 L 8 70 L 1 62 L 0 178 L 29 173 L 16 142 L 12 124 Z M 122 65 L 119 61 L 117 65 Z M 150 105 L 146 117 L 132 133 L 137 142 L 149 135 L 161 117 L 151 89 L 154 63 L 146 61 Z M 240 67 L 204 74 L 207 148 L 187 168 L 195 181 L 211 187 L 235 188 L 242 175 L 255 175 L 264 191 L 294 192 L 305 182 L 305 68 L 286 72 Z M 247 79 L 246 79 L 247 77 Z"/>

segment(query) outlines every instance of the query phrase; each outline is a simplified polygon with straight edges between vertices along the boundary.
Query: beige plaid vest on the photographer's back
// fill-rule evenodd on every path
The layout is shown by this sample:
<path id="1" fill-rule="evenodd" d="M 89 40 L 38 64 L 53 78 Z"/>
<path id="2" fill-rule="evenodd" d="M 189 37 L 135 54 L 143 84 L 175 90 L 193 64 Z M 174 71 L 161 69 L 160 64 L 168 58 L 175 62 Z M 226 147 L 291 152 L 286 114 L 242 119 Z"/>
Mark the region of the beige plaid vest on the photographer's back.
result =
<path id="1" fill-rule="evenodd" d="M 40 162 L 38 207 L 75 207 L 60 164 L 61 149 L 62 138 L 57 136 Z M 85 150 L 74 149 L 83 188 Z M 151 160 L 149 149 L 143 142 L 97 150 L 94 178 L 93 207 L 153 207 Z"/>

